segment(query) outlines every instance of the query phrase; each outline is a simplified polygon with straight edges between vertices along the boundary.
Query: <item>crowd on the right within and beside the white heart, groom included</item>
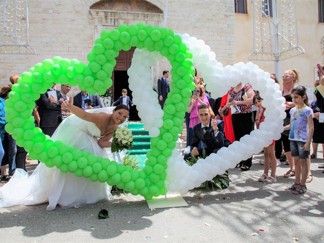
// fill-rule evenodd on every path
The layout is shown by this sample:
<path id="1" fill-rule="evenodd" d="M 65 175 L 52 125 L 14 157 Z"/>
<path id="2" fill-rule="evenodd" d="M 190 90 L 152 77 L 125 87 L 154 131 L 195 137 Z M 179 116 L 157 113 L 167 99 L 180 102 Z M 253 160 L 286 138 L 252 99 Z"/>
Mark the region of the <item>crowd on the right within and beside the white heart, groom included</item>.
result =
<path id="1" fill-rule="evenodd" d="M 324 70 L 324 65 L 321 68 Z M 305 193 L 306 183 L 312 181 L 310 159 L 317 157 L 318 144 L 322 144 L 324 150 L 324 124 L 319 120 L 324 109 L 324 75 L 319 70 L 317 73 L 318 80 L 314 84 L 316 100 L 311 103 L 306 88 L 298 86 L 297 70 L 287 70 L 282 75 L 282 97 L 286 100 L 287 115 L 284 120 L 285 131 L 281 133 L 280 139 L 263 148 L 264 161 L 260 164 L 264 165 L 264 171 L 257 179 L 259 182 L 275 183 L 276 167 L 280 166 L 280 161 L 290 166 L 283 176 L 295 177 L 295 183 L 287 186 L 286 190 L 292 190 L 294 194 Z M 275 74 L 270 74 L 270 77 L 279 84 Z M 223 97 L 213 99 L 206 92 L 208 87 L 203 77 L 195 73 L 194 81 L 196 88 L 185 117 L 187 147 L 190 147 L 190 151 L 186 151 L 184 159 L 201 157 L 203 149 L 206 155 L 217 152 L 221 147 L 227 147 L 250 134 L 264 121 L 266 109 L 262 106 L 263 99 L 251 85 L 239 83 Z M 250 170 L 252 157 L 240 161 L 236 167 L 242 171 Z M 324 169 L 324 166 L 319 168 Z"/>

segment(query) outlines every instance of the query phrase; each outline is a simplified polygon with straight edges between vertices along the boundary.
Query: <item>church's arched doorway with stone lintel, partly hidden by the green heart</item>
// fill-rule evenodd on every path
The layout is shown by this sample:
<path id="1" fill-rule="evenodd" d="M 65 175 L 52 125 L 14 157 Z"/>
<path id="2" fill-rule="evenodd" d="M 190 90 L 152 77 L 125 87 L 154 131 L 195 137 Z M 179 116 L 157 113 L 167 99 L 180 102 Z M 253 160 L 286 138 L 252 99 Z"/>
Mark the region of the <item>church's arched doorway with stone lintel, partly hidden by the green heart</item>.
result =
<path id="1" fill-rule="evenodd" d="M 100 36 L 103 29 L 114 29 L 119 24 L 136 24 L 143 22 L 161 26 L 164 13 L 158 6 L 146 0 L 101 0 L 92 2 L 90 15 L 95 24 L 95 38 Z M 132 91 L 129 89 L 127 69 L 130 68 L 135 48 L 129 51 L 120 51 L 116 58 L 116 66 L 112 74 L 112 100 L 121 96 L 121 90 L 127 89 L 128 96 L 132 99 Z M 130 119 L 138 120 L 136 107 L 130 111 Z"/>

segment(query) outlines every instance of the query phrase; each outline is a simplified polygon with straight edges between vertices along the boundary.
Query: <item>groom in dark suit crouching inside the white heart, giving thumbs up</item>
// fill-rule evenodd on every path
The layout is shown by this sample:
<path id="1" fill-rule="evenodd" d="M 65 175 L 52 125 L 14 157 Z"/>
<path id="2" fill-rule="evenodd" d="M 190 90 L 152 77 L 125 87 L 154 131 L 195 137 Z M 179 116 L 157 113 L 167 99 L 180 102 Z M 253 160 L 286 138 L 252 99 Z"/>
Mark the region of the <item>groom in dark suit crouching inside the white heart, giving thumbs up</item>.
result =
<path id="1" fill-rule="evenodd" d="M 184 155 L 184 159 L 190 158 L 191 154 L 194 156 L 202 156 L 203 148 L 197 149 L 199 142 L 203 141 L 206 155 L 217 153 L 223 146 L 227 147 L 230 142 L 224 136 L 224 121 L 212 119 L 209 107 L 206 104 L 198 107 L 198 117 L 201 123 L 193 127 L 193 137 L 191 140 L 190 151 Z"/>

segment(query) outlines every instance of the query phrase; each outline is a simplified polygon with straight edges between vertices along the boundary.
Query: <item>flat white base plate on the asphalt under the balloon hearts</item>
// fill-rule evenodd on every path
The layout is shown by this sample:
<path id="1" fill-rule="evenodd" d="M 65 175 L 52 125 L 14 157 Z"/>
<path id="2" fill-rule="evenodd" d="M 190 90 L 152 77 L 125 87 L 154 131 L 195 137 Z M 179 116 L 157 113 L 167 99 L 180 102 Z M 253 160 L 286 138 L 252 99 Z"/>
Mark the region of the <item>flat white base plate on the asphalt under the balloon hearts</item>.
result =
<path id="1" fill-rule="evenodd" d="M 161 195 L 146 202 L 150 210 L 188 206 L 180 193 L 167 194 L 167 196 Z"/>

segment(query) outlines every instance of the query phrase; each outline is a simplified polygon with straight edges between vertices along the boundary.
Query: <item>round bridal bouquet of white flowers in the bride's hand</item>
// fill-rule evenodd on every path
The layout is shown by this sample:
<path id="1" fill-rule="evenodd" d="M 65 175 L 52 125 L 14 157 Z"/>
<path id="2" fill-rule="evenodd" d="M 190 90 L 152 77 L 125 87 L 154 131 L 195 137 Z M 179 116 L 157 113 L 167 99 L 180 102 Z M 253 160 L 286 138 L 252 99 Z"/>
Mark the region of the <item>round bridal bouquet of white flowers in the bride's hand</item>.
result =
<path id="1" fill-rule="evenodd" d="M 117 128 L 113 131 L 111 152 L 130 149 L 133 146 L 133 135 L 127 128 Z"/>

